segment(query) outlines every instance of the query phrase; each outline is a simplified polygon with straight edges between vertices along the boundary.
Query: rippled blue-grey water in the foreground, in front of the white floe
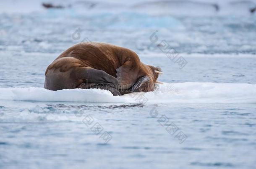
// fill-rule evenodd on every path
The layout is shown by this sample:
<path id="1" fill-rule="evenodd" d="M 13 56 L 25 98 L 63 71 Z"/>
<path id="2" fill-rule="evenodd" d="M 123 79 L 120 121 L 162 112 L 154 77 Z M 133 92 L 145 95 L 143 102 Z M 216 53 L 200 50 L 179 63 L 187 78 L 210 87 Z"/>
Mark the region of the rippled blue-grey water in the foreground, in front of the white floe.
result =
<path id="1" fill-rule="evenodd" d="M 1 104 L 3 168 L 253 169 L 256 163 L 251 104 Z M 88 114 L 111 134 L 107 144 L 82 122 Z M 162 115 L 188 137 L 182 144 L 179 131 L 171 135 L 158 121 Z"/>

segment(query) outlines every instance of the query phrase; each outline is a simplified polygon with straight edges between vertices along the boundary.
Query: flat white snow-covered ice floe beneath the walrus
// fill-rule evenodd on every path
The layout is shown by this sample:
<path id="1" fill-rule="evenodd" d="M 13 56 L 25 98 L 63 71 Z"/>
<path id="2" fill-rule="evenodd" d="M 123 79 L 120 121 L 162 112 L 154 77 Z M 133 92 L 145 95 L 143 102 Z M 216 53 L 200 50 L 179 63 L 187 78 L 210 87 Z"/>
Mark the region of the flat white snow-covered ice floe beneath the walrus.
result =
<path id="1" fill-rule="evenodd" d="M 256 85 L 246 83 L 164 83 L 154 92 L 112 96 L 100 89 L 50 91 L 0 88 L 0 100 L 111 103 L 256 103 Z"/>

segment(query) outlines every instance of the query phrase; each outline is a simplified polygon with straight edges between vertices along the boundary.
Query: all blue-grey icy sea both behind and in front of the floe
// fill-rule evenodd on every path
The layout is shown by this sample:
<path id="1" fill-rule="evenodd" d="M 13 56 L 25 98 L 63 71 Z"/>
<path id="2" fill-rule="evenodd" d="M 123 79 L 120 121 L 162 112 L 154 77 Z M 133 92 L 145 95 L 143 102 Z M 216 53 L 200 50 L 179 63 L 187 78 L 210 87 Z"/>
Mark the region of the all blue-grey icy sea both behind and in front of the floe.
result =
<path id="1" fill-rule="evenodd" d="M 255 28 L 255 15 L 1 13 L 0 88 L 43 87 L 46 67 L 86 38 L 133 49 L 167 83 L 256 84 Z M 159 50 L 162 40 L 187 53 L 184 68 Z M 0 168 L 253 169 L 255 112 L 254 103 L 0 100 Z"/>

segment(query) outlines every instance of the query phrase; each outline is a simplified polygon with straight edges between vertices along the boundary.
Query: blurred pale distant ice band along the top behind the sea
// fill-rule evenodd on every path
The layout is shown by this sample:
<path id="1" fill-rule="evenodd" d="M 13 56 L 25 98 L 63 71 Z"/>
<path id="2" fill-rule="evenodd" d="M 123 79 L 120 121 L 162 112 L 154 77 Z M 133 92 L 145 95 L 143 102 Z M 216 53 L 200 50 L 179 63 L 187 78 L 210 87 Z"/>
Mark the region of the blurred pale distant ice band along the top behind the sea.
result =
<path id="1" fill-rule="evenodd" d="M 73 10 L 75 13 L 134 11 L 154 15 L 248 15 L 256 8 L 256 0 L 9 0 L 1 2 L 0 13 L 42 13 L 47 10 L 42 3 L 61 6 L 57 10 Z"/>

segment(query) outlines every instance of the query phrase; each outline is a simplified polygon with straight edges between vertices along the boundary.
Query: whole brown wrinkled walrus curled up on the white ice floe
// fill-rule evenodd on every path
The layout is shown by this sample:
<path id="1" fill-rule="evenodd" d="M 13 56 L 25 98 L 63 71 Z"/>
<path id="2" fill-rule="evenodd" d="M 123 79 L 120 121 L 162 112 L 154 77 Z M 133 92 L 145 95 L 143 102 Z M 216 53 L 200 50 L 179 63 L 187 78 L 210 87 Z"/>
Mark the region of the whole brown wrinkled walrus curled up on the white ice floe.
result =
<path id="1" fill-rule="evenodd" d="M 99 42 L 83 42 L 61 53 L 45 71 L 44 88 L 57 91 L 100 88 L 114 96 L 154 91 L 159 67 L 142 63 L 128 48 Z"/>

